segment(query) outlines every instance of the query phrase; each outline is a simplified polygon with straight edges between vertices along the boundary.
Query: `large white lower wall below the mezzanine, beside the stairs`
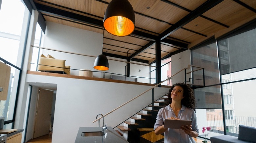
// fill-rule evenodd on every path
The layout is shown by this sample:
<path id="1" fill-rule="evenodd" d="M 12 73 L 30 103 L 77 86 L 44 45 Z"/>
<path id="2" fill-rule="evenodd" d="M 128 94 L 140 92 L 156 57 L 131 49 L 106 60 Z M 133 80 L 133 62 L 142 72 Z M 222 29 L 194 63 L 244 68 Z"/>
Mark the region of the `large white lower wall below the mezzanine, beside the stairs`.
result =
<path id="1" fill-rule="evenodd" d="M 53 143 L 75 142 L 79 127 L 96 127 L 96 115 L 106 115 L 133 99 L 150 86 L 100 82 L 83 79 L 27 75 L 27 82 L 57 84 L 53 125 Z M 154 89 L 154 100 L 169 88 Z M 152 90 L 107 115 L 104 123 L 115 127 L 152 102 Z M 101 122 L 102 123 L 102 122 Z"/>

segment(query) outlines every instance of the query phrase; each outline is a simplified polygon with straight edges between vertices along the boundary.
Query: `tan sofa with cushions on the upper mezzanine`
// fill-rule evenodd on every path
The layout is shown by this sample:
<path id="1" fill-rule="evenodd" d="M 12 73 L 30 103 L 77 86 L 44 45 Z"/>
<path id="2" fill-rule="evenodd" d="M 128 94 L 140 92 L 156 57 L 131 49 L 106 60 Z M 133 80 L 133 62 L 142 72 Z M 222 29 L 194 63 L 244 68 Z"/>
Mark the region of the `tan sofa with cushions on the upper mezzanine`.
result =
<path id="1" fill-rule="evenodd" d="M 65 61 L 66 60 L 55 59 L 49 54 L 47 57 L 42 54 L 38 59 L 37 70 L 44 72 L 70 74 L 70 66 L 65 66 Z"/>

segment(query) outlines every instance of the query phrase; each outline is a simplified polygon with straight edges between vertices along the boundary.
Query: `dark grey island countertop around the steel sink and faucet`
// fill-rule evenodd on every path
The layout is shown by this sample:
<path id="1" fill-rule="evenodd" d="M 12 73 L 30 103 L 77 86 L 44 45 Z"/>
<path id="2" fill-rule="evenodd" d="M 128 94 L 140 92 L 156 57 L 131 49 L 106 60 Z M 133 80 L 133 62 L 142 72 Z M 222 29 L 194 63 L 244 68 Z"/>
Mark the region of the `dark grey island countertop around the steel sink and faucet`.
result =
<path id="1" fill-rule="evenodd" d="M 107 127 L 104 136 L 82 136 L 83 132 L 99 132 L 102 127 L 80 127 L 75 139 L 75 143 L 128 143 L 113 128 Z"/>

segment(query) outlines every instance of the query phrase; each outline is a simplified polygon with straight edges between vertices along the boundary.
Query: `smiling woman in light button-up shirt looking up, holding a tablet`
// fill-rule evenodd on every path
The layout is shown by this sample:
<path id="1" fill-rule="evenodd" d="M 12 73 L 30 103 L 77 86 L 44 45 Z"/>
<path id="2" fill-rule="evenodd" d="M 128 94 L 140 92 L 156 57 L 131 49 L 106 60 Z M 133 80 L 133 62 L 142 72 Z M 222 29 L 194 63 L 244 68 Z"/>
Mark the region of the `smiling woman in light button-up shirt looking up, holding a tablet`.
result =
<path id="1" fill-rule="evenodd" d="M 164 143 L 195 143 L 192 137 L 197 137 L 199 132 L 192 89 L 184 83 L 173 85 L 166 104 L 167 106 L 158 111 L 155 134 L 164 133 Z M 163 127 L 164 119 L 192 120 L 192 123 L 190 126 L 182 126 L 181 129 L 168 129 Z"/>

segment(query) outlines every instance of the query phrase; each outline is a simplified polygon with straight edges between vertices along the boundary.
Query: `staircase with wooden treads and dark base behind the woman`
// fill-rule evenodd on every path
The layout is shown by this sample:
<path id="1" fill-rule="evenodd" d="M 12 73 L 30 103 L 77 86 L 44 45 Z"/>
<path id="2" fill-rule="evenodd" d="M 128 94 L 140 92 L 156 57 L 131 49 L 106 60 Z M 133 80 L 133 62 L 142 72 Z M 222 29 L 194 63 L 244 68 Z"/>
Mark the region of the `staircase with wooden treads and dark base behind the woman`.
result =
<path id="1" fill-rule="evenodd" d="M 139 113 L 117 126 L 119 132 L 129 143 L 151 143 L 164 141 L 163 135 L 154 133 L 157 114 L 160 108 L 166 103 L 167 94 L 144 108 Z M 152 110 L 154 109 L 154 110 Z"/>

